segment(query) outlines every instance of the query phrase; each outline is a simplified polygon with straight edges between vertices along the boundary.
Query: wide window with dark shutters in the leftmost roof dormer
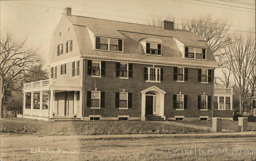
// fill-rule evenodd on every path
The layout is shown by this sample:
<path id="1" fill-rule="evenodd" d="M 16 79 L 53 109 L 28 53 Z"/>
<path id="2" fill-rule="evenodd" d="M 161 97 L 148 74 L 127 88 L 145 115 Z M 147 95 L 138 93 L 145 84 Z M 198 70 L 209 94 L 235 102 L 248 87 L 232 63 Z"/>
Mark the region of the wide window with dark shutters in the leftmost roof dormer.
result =
<path id="1" fill-rule="evenodd" d="M 106 50 L 106 51 L 122 51 L 123 40 L 96 37 L 95 49 Z"/>

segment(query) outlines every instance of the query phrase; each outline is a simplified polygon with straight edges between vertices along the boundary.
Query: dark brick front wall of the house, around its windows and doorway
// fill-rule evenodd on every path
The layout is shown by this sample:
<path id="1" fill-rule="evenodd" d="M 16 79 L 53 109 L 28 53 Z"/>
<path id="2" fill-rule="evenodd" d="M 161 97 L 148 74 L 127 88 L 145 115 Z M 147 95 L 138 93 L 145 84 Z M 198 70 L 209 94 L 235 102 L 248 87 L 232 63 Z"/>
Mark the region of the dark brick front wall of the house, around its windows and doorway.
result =
<path id="1" fill-rule="evenodd" d="M 209 95 L 212 98 L 212 83 L 201 84 L 198 82 L 198 69 L 189 68 L 188 81 L 176 82 L 173 80 L 174 68 L 170 66 L 155 65 L 154 67 L 163 68 L 163 81 L 161 83 L 145 82 L 144 67 L 152 67 L 152 65 L 133 64 L 133 77 L 129 79 L 119 79 L 116 77 L 116 62 L 106 62 L 105 75 L 101 78 L 93 78 L 87 75 L 87 60 L 84 62 L 84 96 L 83 107 L 84 117 L 93 114 L 93 109 L 86 107 L 87 90 L 94 90 L 95 82 L 97 90 L 105 91 L 105 107 L 95 109 L 95 115 L 105 117 L 117 117 L 118 115 L 129 115 L 130 117 L 141 116 L 141 97 L 140 91 L 151 86 L 166 91 L 164 102 L 164 114 L 168 117 L 185 116 L 198 117 L 212 116 L 212 110 L 198 110 L 198 95 Z M 115 92 L 125 90 L 132 93 L 132 108 L 128 110 L 119 110 L 115 107 Z M 173 94 L 185 94 L 188 96 L 188 107 L 184 111 L 176 111 L 173 109 Z M 212 109 L 212 107 L 211 107 Z"/>

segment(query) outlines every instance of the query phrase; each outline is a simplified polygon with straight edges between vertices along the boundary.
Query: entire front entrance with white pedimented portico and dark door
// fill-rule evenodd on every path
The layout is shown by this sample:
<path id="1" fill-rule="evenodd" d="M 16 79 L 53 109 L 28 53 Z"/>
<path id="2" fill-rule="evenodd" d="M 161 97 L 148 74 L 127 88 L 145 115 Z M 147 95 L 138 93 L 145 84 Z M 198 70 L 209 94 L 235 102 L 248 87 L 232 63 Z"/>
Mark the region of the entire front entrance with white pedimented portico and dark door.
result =
<path id="1" fill-rule="evenodd" d="M 164 95 L 165 91 L 161 90 L 156 86 L 152 86 L 141 91 L 142 102 L 141 102 L 141 120 L 145 121 L 145 116 L 155 115 L 164 116 Z"/>

